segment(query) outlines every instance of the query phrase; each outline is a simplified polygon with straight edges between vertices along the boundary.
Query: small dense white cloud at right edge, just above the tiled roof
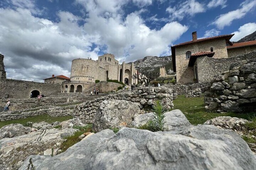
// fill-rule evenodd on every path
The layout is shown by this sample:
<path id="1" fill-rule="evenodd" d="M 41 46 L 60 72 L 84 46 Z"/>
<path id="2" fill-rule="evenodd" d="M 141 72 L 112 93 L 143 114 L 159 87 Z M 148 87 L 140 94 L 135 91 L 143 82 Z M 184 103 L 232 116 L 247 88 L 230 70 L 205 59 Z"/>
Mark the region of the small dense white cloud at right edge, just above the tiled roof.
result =
<path id="1" fill-rule="evenodd" d="M 232 32 L 232 34 L 235 35 L 230 39 L 230 41 L 238 41 L 254 31 L 256 31 L 256 23 L 246 23 L 245 25 L 240 26 L 238 31 Z"/>

